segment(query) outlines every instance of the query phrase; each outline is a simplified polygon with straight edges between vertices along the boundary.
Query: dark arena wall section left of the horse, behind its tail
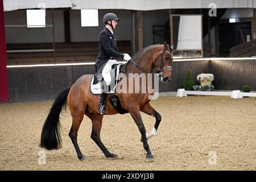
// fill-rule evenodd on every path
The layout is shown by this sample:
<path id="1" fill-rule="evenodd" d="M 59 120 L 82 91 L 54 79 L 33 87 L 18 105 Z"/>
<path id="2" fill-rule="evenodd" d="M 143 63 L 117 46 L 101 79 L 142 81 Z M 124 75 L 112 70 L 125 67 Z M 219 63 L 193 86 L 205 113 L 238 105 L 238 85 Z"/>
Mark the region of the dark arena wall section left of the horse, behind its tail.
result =
<path id="1" fill-rule="evenodd" d="M 84 74 L 94 73 L 94 65 L 8 68 L 10 102 L 53 100 Z"/>

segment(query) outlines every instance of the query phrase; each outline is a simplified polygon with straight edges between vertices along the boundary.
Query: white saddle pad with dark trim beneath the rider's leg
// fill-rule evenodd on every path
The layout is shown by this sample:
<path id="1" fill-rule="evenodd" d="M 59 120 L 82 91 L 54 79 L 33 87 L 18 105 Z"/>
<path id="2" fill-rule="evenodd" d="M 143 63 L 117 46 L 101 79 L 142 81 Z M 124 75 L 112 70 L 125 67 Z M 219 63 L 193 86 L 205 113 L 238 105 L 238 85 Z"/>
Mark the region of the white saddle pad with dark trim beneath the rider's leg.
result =
<path id="1" fill-rule="evenodd" d="M 112 81 L 111 81 L 111 84 L 109 86 L 108 94 L 115 93 L 115 87 L 117 86 L 120 67 L 121 67 L 121 64 L 113 64 L 112 65 L 112 69 L 110 71 Z M 92 80 L 90 81 L 90 92 L 92 92 L 92 94 L 94 94 L 94 95 L 101 94 L 101 85 L 102 85 L 101 82 L 103 80 L 104 79 L 102 77 L 98 78 L 97 84 L 93 84 L 94 76 L 92 77 Z"/>

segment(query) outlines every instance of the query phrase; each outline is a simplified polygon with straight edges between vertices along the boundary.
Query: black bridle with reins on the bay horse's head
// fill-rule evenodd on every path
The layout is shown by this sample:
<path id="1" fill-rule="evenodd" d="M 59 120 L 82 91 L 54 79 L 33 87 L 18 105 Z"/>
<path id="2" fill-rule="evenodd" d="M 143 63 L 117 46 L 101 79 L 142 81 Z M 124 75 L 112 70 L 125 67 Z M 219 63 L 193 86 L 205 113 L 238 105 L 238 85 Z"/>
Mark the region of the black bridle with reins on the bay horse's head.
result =
<path id="1" fill-rule="evenodd" d="M 155 67 L 155 63 L 156 63 L 156 60 L 158 60 L 158 57 L 156 57 L 156 59 L 154 60 L 154 68 L 153 69 L 143 68 L 140 65 L 138 65 L 137 63 L 135 63 L 133 60 L 130 60 L 129 62 L 131 62 L 136 68 L 141 69 L 144 72 L 147 72 L 147 73 L 152 73 L 152 72 L 157 73 L 158 76 L 160 76 L 160 80 L 163 81 L 163 71 L 164 70 L 172 71 L 172 67 L 163 67 L 163 55 L 164 55 L 164 52 L 168 53 L 168 55 L 170 55 L 171 59 L 173 57 L 173 55 L 171 55 L 171 53 L 166 51 L 166 48 L 164 48 L 163 52 L 160 53 L 160 55 L 158 55 L 158 57 L 161 56 L 160 68 L 158 70 Z"/>

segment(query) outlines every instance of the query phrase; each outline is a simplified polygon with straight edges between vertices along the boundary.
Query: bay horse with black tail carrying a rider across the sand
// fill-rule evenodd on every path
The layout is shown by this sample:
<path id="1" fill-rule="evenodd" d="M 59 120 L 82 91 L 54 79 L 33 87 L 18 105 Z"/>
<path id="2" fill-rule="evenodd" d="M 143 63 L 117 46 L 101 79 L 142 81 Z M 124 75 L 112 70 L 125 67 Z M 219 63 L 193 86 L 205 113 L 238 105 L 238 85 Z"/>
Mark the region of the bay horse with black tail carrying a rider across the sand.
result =
<path id="1" fill-rule="evenodd" d="M 166 42 L 164 44 L 154 44 L 143 48 L 137 52 L 133 58 L 125 65 L 125 74 L 129 73 L 158 73 L 160 80 L 167 82 L 171 80 L 172 72 L 172 57 L 173 50 Z M 100 132 L 102 126 L 102 119 L 104 115 L 101 115 L 98 111 L 98 103 L 100 101 L 100 95 L 94 95 L 90 92 L 90 81 L 93 75 L 81 76 L 71 88 L 64 89 L 55 98 L 48 117 L 44 122 L 40 147 L 47 150 L 61 148 L 61 137 L 59 131 L 59 117 L 63 109 L 66 109 L 67 105 L 72 116 L 72 126 L 69 131 L 69 137 L 72 140 L 75 147 L 77 157 L 80 160 L 84 160 L 85 156 L 82 155 L 79 145 L 77 144 L 77 131 L 84 115 L 92 120 L 92 134 L 90 137 L 94 140 L 97 146 L 101 149 L 107 158 L 117 158 L 118 155 L 112 154 L 101 142 Z M 147 78 L 146 78 L 147 79 Z M 134 82 L 134 84 L 141 84 L 141 82 Z M 141 89 L 141 88 L 140 88 Z M 140 90 L 141 91 L 141 90 Z M 154 160 L 151 154 L 150 148 L 147 143 L 147 139 L 154 136 L 161 121 L 161 115 L 150 105 L 149 95 L 153 93 L 115 93 L 119 97 L 119 101 L 123 109 L 127 110 L 131 117 L 134 119 L 138 129 L 141 133 L 141 141 L 143 142 L 144 150 L 146 150 L 146 159 Z M 117 114 L 118 111 L 110 104 L 109 96 L 106 98 L 108 114 Z M 155 117 L 155 125 L 149 134 L 146 134 L 146 129 L 143 125 L 141 113 L 146 113 Z"/>

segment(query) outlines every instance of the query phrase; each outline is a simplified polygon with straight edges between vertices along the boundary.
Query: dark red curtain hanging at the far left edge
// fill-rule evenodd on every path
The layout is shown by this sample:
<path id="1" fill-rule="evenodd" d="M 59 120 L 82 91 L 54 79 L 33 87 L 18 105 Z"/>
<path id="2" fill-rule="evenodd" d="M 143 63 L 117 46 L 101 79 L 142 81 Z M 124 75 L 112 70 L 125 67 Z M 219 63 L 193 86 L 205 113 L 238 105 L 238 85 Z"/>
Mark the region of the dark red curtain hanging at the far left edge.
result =
<path id="1" fill-rule="evenodd" d="M 9 101 L 6 68 L 5 21 L 3 19 L 3 1 L 0 0 L 0 102 Z"/>

